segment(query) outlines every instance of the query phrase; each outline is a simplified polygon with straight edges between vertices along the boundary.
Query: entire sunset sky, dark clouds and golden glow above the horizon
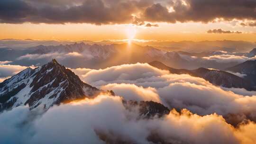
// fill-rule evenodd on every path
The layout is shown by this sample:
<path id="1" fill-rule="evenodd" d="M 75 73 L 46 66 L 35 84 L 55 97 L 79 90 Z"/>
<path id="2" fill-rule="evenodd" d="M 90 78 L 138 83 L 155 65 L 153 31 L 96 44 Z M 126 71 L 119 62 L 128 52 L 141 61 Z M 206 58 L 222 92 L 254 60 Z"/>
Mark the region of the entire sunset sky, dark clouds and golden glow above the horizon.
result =
<path id="1" fill-rule="evenodd" d="M 1 0 L 0 39 L 256 42 L 256 0 Z"/>

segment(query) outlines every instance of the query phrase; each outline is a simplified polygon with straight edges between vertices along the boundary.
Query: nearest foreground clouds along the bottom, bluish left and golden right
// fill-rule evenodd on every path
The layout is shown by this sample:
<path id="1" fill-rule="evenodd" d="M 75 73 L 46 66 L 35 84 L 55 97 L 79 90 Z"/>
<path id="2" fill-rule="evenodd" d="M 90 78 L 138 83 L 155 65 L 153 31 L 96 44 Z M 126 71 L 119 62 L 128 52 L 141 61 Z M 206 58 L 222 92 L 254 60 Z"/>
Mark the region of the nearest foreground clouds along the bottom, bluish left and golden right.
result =
<path id="1" fill-rule="evenodd" d="M 135 108 L 136 109 L 136 108 Z M 118 96 L 100 95 L 40 111 L 27 107 L 0 114 L 0 143 L 3 144 L 254 144 L 256 124 L 238 128 L 217 114 L 199 116 L 183 109 L 163 118 L 138 119 Z M 15 137 L 13 137 L 15 135 Z M 216 138 L 218 137 L 218 138 Z M 155 142 L 156 143 L 156 142 Z"/>

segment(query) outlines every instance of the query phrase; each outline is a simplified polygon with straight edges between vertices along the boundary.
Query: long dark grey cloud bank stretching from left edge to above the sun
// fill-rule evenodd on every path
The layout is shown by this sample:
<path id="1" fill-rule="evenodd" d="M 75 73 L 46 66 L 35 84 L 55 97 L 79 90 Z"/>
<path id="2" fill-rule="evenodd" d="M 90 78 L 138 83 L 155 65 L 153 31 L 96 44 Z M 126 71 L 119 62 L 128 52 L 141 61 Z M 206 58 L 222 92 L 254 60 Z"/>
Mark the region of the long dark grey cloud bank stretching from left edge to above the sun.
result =
<path id="1" fill-rule="evenodd" d="M 54 0 L 53 0 L 54 1 Z M 146 5 L 142 1 L 76 0 L 55 2 L 49 0 L 1 0 L 0 22 L 2 23 L 131 23 L 132 14 Z M 78 2 L 79 1 L 79 2 Z"/>

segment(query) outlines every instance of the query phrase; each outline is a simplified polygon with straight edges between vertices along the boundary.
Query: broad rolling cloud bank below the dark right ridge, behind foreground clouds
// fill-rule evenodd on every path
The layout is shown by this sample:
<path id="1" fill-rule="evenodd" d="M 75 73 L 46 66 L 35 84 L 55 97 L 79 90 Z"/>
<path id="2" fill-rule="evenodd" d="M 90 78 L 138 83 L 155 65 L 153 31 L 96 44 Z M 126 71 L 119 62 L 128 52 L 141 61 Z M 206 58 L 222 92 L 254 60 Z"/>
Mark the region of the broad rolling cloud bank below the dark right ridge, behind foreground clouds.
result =
<path id="1" fill-rule="evenodd" d="M 83 81 L 97 87 L 113 88 L 126 99 L 131 97 L 145 99 L 133 90 L 129 95 L 127 90 L 130 84 L 144 89 L 155 88 L 161 103 L 169 108 L 187 108 L 194 113 L 207 115 L 217 113 L 227 116 L 229 114 L 242 114 L 256 121 L 256 96 L 244 96 L 230 90 L 223 90 L 210 82 L 198 77 L 182 74 L 170 74 L 156 69 L 148 64 L 124 64 L 103 70 L 91 70 L 84 75 L 80 74 Z M 123 83 L 128 84 L 125 86 Z M 120 86 L 120 85 L 122 86 Z M 107 85 L 107 86 L 106 86 Z M 138 89 L 138 88 L 137 88 Z M 135 93 L 135 94 L 134 94 Z M 139 99 L 139 100 L 140 100 Z"/>

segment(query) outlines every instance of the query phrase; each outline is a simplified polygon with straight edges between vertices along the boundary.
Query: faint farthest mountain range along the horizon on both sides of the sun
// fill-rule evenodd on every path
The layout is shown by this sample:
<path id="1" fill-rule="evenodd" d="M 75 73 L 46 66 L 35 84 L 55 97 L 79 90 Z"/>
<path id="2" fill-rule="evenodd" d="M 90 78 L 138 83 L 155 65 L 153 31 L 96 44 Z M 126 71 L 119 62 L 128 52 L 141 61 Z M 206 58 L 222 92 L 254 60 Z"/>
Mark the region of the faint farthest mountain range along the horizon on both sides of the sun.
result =
<path id="1" fill-rule="evenodd" d="M 122 40 L 102 40 L 102 41 L 77 41 L 77 43 L 86 43 L 89 45 L 98 44 L 98 45 L 112 45 L 112 44 L 124 44 L 125 41 Z M 0 48 L 7 47 L 12 49 L 27 49 L 37 45 L 70 45 L 73 44 L 73 41 L 55 41 L 55 40 L 19 40 L 19 39 L 1 39 Z M 205 50 L 208 51 L 228 51 L 236 53 L 246 53 L 251 50 L 253 47 L 256 47 L 254 42 L 246 41 L 231 41 L 231 40 L 222 40 L 222 41 L 155 41 L 155 40 L 134 40 L 133 43 L 137 45 L 150 45 L 158 49 L 166 51 L 185 51 L 190 53 L 201 53 Z"/>

